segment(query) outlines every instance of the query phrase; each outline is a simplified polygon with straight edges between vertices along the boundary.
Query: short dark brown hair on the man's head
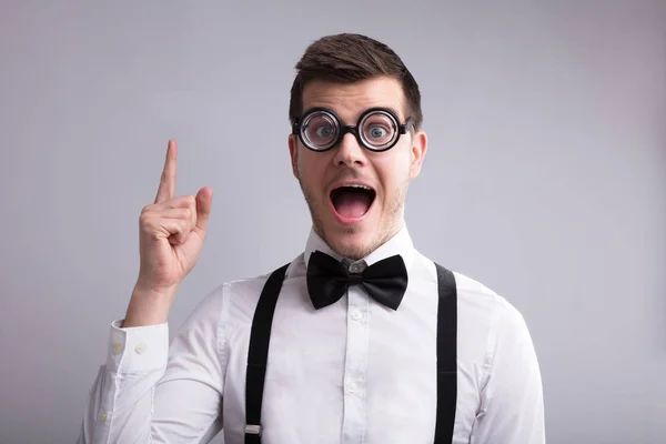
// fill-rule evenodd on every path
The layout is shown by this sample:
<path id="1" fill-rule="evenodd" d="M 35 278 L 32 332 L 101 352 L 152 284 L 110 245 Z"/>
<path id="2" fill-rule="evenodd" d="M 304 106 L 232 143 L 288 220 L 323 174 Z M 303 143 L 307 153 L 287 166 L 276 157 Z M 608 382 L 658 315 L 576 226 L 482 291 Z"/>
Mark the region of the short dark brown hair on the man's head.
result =
<path id="1" fill-rule="evenodd" d="M 407 117 L 418 130 L 423 121 L 421 92 L 416 80 L 400 57 L 386 44 L 366 36 L 342 33 L 311 43 L 296 63 L 292 84 L 289 120 L 293 124 L 303 112 L 303 89 L 312 80 L 352 83 L 387 75 L 396 79 L 405 94 Z"/>

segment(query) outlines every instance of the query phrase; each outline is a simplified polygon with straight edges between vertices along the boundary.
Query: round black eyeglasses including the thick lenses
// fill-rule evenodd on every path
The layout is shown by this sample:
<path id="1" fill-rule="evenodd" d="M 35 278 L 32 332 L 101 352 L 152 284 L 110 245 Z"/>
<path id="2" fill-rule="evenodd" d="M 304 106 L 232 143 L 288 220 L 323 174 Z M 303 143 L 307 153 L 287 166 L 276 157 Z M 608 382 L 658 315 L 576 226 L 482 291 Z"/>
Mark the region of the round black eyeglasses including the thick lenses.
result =
<path id="1" fill-rule="evenodd" d="M 326 108 L 314 108 L 294 122 L 292 133 L 312 151 L 332 149 L 347 132 L 354 134 L 359 143 L 370 151 L 386 151 L 413 124 L 412 118 L 400 124 L 397 115 L 390 109 L 371 108 L 361 114 L 355 127 L 343 127 L 335 112 Z"/>

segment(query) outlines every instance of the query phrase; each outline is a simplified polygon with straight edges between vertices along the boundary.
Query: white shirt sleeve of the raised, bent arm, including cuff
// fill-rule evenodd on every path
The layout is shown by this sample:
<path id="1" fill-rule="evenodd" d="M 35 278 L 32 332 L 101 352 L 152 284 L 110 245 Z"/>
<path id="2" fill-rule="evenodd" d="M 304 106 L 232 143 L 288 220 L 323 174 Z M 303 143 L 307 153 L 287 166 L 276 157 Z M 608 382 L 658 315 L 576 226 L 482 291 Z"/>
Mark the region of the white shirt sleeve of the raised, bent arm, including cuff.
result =
<path id="1" fill-rule="evenodd" d="M 78 443 L 198 443 L 218 434 L 226 365 L 222 309 L 221 287 L 171 344 L 168 324 L 113 322 Z"/>

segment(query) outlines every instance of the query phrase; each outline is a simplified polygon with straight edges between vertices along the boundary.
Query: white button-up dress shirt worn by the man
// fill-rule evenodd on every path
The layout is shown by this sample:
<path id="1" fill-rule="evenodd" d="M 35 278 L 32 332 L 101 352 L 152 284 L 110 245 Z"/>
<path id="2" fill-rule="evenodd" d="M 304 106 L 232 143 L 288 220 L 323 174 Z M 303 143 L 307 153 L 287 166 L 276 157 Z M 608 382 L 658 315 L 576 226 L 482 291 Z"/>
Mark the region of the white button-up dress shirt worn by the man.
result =
<path id="1" fill-rule="evenodd" d="M 264 444 L 428 444 L 436 410 L 437 275 L 406 228 L 367 265 L 401 254 L 408 287 L 397 309 L 361 285 L 322 310 L 305 272 L 311 232 L 291 262 L 273 319 L 263 396 Z M 445 264 L 443 264 L 446 266 Z M 505 299 L 454 272 L 458 297 L 454 443 L 545 443 L 542 380 L 526 324 Z M 266 275 L 221 285 L 169 345 L 168 325 L 112 323 L 80 443 L 241 444 L 245 364 Z M 223 428 L 222 428 L 223 427 Z"/>

